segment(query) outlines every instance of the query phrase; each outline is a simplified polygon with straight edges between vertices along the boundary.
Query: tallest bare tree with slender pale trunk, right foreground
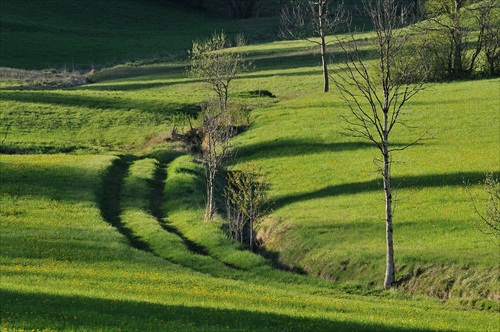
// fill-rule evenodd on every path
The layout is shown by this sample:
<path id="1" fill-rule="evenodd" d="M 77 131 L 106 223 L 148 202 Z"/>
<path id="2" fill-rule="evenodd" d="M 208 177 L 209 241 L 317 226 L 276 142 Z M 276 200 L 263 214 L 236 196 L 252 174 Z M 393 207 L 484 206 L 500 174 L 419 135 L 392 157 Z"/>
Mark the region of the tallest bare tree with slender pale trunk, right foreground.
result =
<path id="1" fill-rule="evenodd" d="M 381 153 L 387 247 L 384 287 L 390 288 L 395 284 L 392 154 L 421 138 L 395 147 L 391 134 L 398 124 L 403 124 L 405 104 L 423 88 L 426 68 L 422 61 L 414 59 L 418 52 L 407 49 L 412 35 L 398 30 L 401 12 L 409 11 L 398 11 L 395 0 L 366 1 L 364 6 L 375 32 L 376 62 L 362 57 L 355 35 L 351 34 L 349 41 L 339 41 L 346 57 L 339 74 L 332 79 L 351 111 L 351 117 L 344 118 L 348 134 L 373 142 Z"/>

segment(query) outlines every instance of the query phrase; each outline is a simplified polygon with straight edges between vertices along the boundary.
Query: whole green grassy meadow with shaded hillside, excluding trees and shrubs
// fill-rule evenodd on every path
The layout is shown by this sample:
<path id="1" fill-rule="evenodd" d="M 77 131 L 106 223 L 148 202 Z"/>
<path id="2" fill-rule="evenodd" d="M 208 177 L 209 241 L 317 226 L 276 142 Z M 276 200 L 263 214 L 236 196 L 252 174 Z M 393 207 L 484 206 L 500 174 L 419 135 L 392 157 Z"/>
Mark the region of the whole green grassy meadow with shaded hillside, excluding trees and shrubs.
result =
<path id="1" fill-rule="evenodd" d="M 378 151 L 342 134 L 349 110 L 322 92 L 310 44 L 262 41 L 268 18 L 82 2 L 0 4 L 2 67 L 102 68 L 66 89 L 0 78 L 3 330 L 498 329 L 500 253 L 470 197 L 500 173 L 498 78 L 430 84 L 408 103 L 394 143 L 424 139 L 394 155 L 399 286 L 385 291 Z M 253 161 L 270 182 L 265 255 L 230 242 L 222 217 L 202 221 L 202 166 L 167 140 L 199 122 L 210 92 L 183 54 L 215 29 L 251 41 L 230 101 L 251 126 L 228 166 Z"/>

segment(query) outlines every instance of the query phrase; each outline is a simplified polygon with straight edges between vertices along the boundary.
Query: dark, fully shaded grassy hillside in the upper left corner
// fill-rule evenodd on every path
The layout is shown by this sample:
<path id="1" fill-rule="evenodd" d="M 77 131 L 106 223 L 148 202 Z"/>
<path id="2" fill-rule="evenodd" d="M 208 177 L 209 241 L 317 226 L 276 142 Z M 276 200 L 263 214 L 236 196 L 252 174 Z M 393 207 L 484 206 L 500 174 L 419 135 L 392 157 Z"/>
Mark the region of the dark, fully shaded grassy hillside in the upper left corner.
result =
<path id="1" fill-rule="evenodd" d="M 257 31 L 264 33 L 251 32 L 259 26 L 264 29 Z M 192 40 L 208 37 L 215 29 L 248 31 L 251 38 L 273 35 L 266 19 L 252 26 L 224 22 L 149 0 L 5 0 L 0 3 L 0 66 L 99 67 L 184 54 Z"/>

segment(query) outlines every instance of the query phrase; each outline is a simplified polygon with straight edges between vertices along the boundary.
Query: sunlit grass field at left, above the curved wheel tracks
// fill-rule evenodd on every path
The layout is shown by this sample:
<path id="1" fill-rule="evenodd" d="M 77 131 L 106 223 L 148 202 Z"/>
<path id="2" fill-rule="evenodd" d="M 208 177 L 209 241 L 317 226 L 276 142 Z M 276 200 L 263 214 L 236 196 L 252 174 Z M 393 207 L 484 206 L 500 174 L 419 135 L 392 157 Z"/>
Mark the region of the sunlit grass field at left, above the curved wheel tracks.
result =
<path id="1" fill-rule="evenodd" d="M 197 112 L 196 100 L 176 93 L 178 84 L 186 81 L 180 75 L 111 87 L 95 84 L 77 91 L 2 91 L 4 135 L 10 126 L 4 143 L 9 148 L 62 151 L 143 147 L 171 130 L 172 118 Z M 163 93 L 167 88 L 169 97 Z"/>

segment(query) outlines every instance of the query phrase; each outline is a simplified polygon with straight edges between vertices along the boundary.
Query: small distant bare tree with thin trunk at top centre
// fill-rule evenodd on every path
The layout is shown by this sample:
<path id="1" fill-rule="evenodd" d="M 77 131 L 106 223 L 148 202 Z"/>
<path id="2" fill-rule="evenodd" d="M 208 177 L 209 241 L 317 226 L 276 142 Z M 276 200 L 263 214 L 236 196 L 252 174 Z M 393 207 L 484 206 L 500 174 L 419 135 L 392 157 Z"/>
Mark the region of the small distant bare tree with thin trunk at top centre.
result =
<path id="1" fill-rule="evenodd" d="M 343 3 L 339 0 L 291 0 L 281 11 L 282 37 L 307 40 L 319 46 L 324 92 L 330 89 L 326 36 L 335 33 L 345 20 Z"/>

